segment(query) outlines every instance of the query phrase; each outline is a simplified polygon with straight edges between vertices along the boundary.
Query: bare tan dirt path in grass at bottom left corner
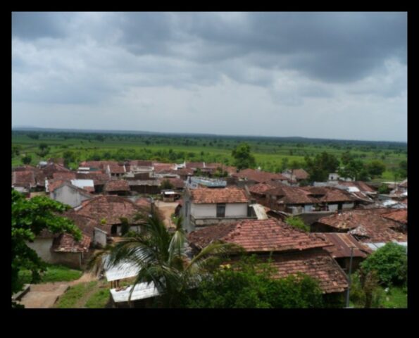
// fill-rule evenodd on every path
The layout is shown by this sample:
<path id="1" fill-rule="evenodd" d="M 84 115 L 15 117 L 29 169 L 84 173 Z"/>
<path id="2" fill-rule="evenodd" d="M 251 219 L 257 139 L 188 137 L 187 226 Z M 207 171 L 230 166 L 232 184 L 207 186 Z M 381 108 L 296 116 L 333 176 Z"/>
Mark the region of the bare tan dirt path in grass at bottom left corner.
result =
<path id="1" fill-rule="evenodd" d="M 30 291 L 20 299 L 25 308 L 52 308 L 54 303 L 70 286 L 98 280 L 90 273 L 83 273 L 78 280 L 71 282 L 52 282 L 44 284 L 31 284 Z"/>

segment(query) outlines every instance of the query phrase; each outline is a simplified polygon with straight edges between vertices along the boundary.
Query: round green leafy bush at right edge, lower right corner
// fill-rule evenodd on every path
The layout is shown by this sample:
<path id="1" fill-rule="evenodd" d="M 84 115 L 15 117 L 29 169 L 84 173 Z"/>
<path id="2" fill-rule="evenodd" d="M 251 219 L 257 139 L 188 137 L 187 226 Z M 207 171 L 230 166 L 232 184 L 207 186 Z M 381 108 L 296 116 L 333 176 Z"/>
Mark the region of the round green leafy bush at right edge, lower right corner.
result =
<path id="1" fill-rule="evenodd" d="M 361 268 L 365 273 L 376 271 L 381 284 L 402 284 L 407 280 L 407 254 L 406 248 L 399 244 L 389 242 L 368 256 Z"/>

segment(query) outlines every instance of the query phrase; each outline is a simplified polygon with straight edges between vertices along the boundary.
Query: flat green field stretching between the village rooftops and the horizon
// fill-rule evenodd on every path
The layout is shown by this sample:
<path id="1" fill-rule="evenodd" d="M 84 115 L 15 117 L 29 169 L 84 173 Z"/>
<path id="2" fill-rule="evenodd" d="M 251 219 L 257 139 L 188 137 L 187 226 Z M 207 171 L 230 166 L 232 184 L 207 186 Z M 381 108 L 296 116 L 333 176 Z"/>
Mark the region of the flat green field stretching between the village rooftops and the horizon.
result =
<path id="1" fill-rule="evenodd" d="M 34 138 L 33 135 L 35 134 Z M 323 151 L 338 158 L 351 151 L 365 163 L 380 160 L 386 165 L 381 180 L 394 180 L 392 168 L 407 159 L 407 144 L 398 142 L 358 142 L 273 137 L 189 136 L 160 134 L 97 134 L 76 132 L 13 131 L 12 146 L 19 146 L 19 155 L 12 157 L 12 166 L 22 165 L 25 155 L 32 156 L 32 165 L 51 157 L 62 157 L 64 151 L 74 151 L 76 158 L 70 163 L 75 168 L 85 160 L 144 159 L 171 163 L 205 161 L 232 165 L 231 152 L 235 146 L 246 142 L 262 170 L 279 172 L 283 158 L 304 162 L 305 156 L 315 156 Z M 37 154 L 39 144 L 49 146 L 49 153 Z M 400 178 L 400 177 L 399 177 Z"/>

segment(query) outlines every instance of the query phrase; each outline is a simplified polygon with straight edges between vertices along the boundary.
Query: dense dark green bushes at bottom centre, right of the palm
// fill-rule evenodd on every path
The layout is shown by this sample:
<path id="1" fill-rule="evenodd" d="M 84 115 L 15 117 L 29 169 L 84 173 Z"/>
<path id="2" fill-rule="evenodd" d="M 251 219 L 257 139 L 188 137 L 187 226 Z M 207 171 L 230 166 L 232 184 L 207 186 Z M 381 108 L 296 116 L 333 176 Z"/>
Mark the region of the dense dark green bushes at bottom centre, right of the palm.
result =
<path id="1" fill-rule="evenodd" d="M 321 308 L 318 282 L 306 275 L 273 279 L 273 269 L 255 257 L 222 265 L 187 301 L 189 308 Z"/>

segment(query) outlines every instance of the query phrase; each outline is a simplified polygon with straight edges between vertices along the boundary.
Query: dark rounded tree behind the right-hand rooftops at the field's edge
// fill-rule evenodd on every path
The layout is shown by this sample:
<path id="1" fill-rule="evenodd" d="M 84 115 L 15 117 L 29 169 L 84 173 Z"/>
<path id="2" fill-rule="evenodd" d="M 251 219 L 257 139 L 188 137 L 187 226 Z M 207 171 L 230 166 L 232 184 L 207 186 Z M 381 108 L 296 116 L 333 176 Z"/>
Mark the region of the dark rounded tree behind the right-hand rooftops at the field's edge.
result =
<path id="1" fill-rule="evenodd" d="M 310 175 L 311 182 L 323 182 L 329 177 L 329 173 L 334 173 L 339 165 L 339 160 L 333 154 L 323 151 L 317 154 L 315 158 L 306 156 L 306 168 Z"/>

